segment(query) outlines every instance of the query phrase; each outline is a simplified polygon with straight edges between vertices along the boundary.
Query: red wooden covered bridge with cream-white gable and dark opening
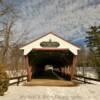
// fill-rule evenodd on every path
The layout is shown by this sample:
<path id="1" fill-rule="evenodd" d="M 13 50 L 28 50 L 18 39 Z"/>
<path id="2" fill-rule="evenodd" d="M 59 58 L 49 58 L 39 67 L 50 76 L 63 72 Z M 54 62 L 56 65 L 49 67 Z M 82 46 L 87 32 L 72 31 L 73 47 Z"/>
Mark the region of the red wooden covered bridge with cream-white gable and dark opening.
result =
<path id="1" fill-rule="evenodd" d="M 50 32 L 20 49 L 23 50 L 29 81 L 36 73 L 41 76 L 47 65 L 61 76 L 69 75 L 72 80 L 80 50 L 78 46 Z"/>

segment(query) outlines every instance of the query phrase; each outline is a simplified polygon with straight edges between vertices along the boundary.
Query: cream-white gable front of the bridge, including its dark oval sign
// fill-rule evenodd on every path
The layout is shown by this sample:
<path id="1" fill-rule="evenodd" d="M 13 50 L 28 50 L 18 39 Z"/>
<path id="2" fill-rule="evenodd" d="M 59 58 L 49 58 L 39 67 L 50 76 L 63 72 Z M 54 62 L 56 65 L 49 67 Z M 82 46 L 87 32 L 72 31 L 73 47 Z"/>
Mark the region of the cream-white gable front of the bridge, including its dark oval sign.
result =
<path id="1" fill-rule="evenodd" d="M 64 40 L 52 32 L 35 39 L 20 49 L 24 50 L 24 55 L 27 55 L 30 51 L 32 51 L 32 49 L 68 49 L 74 55 L 77 55 L 78 50 L 80 50 L 78 46 Z"/>

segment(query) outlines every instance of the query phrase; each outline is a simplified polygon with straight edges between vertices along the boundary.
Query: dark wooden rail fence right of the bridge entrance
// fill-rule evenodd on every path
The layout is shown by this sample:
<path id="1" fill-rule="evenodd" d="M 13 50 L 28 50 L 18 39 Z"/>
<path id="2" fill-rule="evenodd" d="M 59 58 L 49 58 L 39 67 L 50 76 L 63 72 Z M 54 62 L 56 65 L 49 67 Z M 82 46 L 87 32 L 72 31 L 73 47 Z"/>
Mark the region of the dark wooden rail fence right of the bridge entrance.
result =
<path id="1" fill-rule="evenodd" d="M 94 78 L 90 78 L 90 77 L 85 77 L 82 75 L 75 75 L 75 79 L 84 83 L 88 83 L 88 84 L 94 84 L 93 82 L 90 81 L 96 81 L 96 82 L 100 82 L 99 79 L 94 79 Z"/>

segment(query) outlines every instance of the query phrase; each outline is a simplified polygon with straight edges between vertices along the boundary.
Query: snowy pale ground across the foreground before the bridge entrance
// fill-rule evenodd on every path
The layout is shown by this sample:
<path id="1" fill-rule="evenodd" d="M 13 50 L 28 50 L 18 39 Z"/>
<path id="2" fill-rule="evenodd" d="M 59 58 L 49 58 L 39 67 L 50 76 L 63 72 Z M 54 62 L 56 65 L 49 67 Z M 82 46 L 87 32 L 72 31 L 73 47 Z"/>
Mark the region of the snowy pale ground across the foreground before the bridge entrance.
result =
<path id="1" fill-rule="evenodd" d="M 100 100 L 100 85 L 77 87 L 10 86 L 0 100 Z"/>

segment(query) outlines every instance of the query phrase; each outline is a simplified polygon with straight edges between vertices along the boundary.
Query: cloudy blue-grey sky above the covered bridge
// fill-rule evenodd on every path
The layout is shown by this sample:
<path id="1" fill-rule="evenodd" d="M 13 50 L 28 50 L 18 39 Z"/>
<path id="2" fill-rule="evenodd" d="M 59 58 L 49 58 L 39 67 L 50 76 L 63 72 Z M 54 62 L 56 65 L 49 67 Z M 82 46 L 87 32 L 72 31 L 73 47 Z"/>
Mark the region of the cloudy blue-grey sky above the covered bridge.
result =
<path id="1" fill-rule="evenodd" d="M 100 25 L 100 0 L 7 0 L 21 11 L 16 30 L 28 37 L 54 32 L 68 40 L 84 38 L 91 25 Z"/>

